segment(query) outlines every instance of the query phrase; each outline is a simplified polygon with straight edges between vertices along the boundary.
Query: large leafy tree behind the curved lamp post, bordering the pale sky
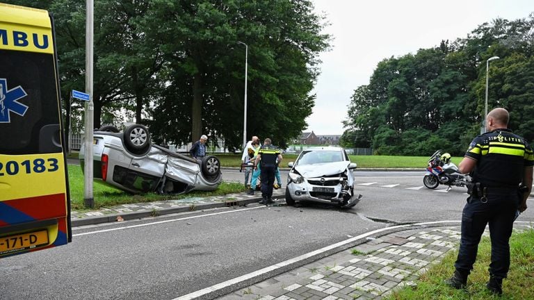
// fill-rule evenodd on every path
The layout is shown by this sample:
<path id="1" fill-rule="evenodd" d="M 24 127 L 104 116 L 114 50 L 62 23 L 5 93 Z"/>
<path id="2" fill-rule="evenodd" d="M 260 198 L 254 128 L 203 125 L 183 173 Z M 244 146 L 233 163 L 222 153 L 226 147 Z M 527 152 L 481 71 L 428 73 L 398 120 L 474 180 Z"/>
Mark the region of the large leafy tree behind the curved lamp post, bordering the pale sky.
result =
<path id="1" fill-rule="evenodd" d="M 245 53 L 238 41 L 249 51 L 248 133 L 283 146 L 305 128 L 316 56 L 328 38 L 310 1 L 159 0 L 146 20 L 149 38 L 162 42 L 169 83 L 152 110 L 155 135 L 185 143 L 207 133 L 241 148 Z"/>

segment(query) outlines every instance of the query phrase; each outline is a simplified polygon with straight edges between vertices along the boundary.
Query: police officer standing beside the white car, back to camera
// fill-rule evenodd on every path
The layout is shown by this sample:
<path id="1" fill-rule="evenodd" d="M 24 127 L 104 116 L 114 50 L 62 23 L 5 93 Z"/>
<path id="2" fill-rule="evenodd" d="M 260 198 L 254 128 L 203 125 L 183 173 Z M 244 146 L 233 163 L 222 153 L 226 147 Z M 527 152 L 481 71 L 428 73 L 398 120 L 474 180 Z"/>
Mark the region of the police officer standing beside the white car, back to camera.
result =
<path id="1" fill-rule="evenodd" d="M 273 183 L 275 183 L 275 170 L 277 165 L 282 161 L 280 149 L 270 144 L 270 138 L 264 140 L 264 145 L 259 148 L 254 170 L 257 169 L 258 163 L 261 162 L 261 204 L 273 203 Z"/>

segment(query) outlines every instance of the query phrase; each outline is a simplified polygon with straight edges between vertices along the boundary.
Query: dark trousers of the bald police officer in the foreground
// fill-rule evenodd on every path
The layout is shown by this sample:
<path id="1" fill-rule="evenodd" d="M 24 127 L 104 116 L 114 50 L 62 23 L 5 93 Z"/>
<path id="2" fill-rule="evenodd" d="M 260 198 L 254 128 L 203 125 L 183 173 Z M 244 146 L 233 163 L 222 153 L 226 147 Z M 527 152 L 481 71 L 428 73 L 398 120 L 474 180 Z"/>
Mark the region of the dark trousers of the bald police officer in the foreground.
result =
<path id="1" fill-rule="evenodd" d="M 478 242 L 489 224 L 492 263 L 489 274 L 506 278 L 510 268 L 510 235 L 519 205 L 517 190 L 487 188 L 486 198 L 469 197 L 462 213 L 462 238 L 455 267 L 464 274 L 473 269 Z"/>

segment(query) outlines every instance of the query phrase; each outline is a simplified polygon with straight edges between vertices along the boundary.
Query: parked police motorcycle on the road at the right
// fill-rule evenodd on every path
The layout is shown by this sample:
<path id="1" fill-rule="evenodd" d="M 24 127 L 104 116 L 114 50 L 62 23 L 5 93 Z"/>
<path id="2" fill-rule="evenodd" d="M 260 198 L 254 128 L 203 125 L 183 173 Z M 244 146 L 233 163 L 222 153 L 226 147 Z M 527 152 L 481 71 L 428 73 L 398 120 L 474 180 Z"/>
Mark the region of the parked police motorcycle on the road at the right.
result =
<path id="1" fill-rule="evenodd" d="M 428 159 L 428 167 L 423 177 L 423 184 L 429 189 L 435 189 L 438 185 L 448 185 L 447 191 L 452 186 L 466 186 L 471 182 L 471 176 L 461 174 L 458 167 L 451 162 L 451 154 L 435 151 Z"/>

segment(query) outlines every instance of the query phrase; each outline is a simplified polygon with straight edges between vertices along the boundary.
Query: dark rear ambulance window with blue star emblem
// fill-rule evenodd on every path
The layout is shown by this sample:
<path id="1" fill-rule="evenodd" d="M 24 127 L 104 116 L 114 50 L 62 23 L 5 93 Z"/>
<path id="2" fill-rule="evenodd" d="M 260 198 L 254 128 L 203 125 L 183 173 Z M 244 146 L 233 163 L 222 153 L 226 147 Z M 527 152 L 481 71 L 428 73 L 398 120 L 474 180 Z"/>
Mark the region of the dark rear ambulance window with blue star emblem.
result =
<path id="1" fill-rule="evenodd" d="M 60 124 L 54 56 L 0 50 L 0 84 L 0 153 L 56 152 L 40 141 L 43 126 Z"/>

